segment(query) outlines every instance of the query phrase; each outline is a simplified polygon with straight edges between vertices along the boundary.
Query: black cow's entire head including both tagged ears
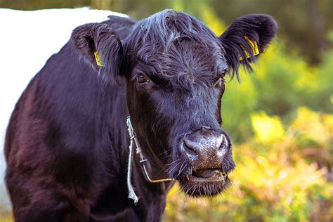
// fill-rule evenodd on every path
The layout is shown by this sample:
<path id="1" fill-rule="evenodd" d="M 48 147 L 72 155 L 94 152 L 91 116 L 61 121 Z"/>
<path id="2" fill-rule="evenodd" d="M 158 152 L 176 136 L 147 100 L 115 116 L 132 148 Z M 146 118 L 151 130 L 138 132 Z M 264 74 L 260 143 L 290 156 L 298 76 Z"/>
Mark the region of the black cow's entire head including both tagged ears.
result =
<path id="1" fill-rule="evenodd" d="M 269 15 L 245 15 L 217 37 L 200 20 L 165 10 L 137 22 L 122 41 L 100 23 L 78 27 L 72 39 L 106 81 L 126 81 L 145 157 L 188 195 L 211 196 L 228 188 L 235 168 L 230 138 L 221 129 L 224 77 L 238 77 L 239 65 L 251 70 L 276 31 Z"/>

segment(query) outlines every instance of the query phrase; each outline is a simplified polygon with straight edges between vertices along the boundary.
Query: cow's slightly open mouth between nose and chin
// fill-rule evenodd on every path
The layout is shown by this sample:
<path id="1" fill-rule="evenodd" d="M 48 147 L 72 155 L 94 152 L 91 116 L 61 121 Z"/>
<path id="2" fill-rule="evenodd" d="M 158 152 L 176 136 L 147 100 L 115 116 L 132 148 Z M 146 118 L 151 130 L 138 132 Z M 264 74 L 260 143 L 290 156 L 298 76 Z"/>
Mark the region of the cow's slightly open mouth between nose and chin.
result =
<path id="1" fill-rule="evenodd" d="M 192 174 L 188 177 L 192 182 L 209 182 L 209 181 L 221 181 L 226 182 L 227 174 L 223 173 L 221 169 L 200 169 L 192 171 Z"/>

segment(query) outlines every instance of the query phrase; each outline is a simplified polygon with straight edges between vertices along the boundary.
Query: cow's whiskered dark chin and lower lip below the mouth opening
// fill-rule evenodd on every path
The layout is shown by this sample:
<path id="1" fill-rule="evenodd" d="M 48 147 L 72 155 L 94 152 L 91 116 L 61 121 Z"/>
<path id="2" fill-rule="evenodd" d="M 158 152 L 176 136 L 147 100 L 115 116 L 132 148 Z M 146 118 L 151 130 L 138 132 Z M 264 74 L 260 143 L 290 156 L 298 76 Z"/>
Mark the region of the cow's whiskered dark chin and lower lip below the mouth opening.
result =
<path id="1" fill-rule="evenodd" d="M 178 180 L 181 190 L 191 197 L 212 197 L 221 194 L 230 187 L 230 179 L 227 174 L 202 178 L 190 174 Z"/>

